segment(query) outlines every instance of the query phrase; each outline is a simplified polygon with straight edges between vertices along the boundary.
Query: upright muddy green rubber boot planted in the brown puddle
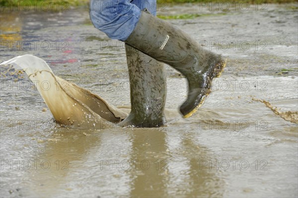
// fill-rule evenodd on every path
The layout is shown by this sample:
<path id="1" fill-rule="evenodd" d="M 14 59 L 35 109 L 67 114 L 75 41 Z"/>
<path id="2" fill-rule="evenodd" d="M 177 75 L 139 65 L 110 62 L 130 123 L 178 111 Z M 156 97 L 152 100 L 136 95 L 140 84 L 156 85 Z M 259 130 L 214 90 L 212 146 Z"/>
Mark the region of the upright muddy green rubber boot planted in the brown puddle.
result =
<path id="1" fill-rule="evenodd" d="M 131 90 L 131 112 L 121 127 L 161 127 L 165 124 L 166 75 L 164 65 L 125 45 Z"/>

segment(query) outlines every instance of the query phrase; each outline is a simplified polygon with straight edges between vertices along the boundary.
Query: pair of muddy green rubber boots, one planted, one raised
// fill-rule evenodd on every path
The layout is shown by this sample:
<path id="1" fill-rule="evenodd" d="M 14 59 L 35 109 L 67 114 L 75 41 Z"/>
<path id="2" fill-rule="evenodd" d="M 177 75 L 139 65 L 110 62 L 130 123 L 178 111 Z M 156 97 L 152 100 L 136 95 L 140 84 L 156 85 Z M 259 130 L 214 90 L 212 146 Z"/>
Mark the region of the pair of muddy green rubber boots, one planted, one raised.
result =
<path id="1" fill-rule="evenodd" d="M 188 81 L 188 97 L 180 106 L 184 118 L 192 116 L 211 92 L 225 61 L 220 55 L 200 49 L 195 40 L 172 24 L 142 11 L 139 22 L 125 41 L 131 89 L 131 112 L 123 127 L 160 127 L 165 124 L 165 63 Z"/>

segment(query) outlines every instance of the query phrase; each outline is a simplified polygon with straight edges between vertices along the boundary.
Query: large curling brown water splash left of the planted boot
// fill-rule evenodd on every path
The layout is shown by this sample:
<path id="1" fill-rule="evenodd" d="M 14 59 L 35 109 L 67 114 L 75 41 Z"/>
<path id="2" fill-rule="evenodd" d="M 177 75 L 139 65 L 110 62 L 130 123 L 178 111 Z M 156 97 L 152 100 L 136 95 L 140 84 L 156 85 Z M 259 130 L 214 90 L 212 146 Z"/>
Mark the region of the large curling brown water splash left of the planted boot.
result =
<path id="1" fill-rule="evenodd" d="M 57 123 L 72 127 L 96 127 L 119 123 L 127 113 L 100 96 L 54 75 L 48 64 L 33 55 L 14 57 L 0 65 L 20 67 L 35 84 Z"/>

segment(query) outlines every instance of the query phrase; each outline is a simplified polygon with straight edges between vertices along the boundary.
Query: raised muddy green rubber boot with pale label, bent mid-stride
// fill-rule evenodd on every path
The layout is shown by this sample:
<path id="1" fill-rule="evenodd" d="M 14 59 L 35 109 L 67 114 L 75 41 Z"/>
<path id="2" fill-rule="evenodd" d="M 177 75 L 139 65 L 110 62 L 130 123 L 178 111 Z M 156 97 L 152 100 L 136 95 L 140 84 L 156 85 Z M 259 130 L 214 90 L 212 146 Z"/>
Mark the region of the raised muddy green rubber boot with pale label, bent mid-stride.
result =
<path id="1" fill-rule="evenodd" d="M 224 70 L 220 55 L 203 50 L 185 32 L 143 10 L 125 41 L 157 61 L 180 71 L 188 81 L 188 98 L 181 105 L 184 118 L 192 116 L 211 92 L 211 82 Z"/>

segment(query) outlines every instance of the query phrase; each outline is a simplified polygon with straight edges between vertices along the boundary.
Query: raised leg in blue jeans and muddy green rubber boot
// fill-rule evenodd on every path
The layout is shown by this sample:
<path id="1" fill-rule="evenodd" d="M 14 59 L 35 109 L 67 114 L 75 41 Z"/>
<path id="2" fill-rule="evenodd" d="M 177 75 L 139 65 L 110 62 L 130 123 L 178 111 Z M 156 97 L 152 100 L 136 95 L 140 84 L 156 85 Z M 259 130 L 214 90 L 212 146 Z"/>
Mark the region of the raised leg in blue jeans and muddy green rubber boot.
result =
<path id="1" fill-rule="evenodd" d="M 110 7 L 113 10 L 117 11 L 117 6 L 119 8 L 115 20 L 103 20 L 108 21 L 106 23 L 108 28 L 105 25 L 96 26 L 100 23 L 101 17 L 104 18 L 108 14 L 98 14 L 96 8 L 92 9 L 91 2 L 90 15 L 94 26 L 104 31 L 110 38 L 113 38 L 113 34 L 109 35 L 107 32 L 111 33 L 114 28 L 118 32 L 115 34 L 115 39 L 123 40 L 150 57 L 180 71 L 187 78 L 189 89 L 188 98 L 180 107 L 180 112 L 184 118 L 192 116 L 210 93 L 212 79 L 221 74 L 225 62 L 221 56 L 201 49 L 196 41 L 182 30 L 147 11 L 140 11 L 140 8 L 130 1 L 117 0 L 118 4 L 112 3 Z M 95 5 L 100 7 L 96 3 Z M 113 22 L 116 24 L 115 27 L 112 25 Z M 132 32 L 131 27 L 135 27 Z M 119 36 L 119 32 L 123 32 L 124 36 Z M 131 34 L 125 39 L 130 32 Z"/>

